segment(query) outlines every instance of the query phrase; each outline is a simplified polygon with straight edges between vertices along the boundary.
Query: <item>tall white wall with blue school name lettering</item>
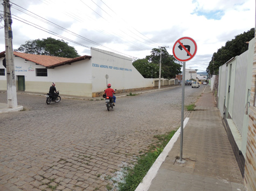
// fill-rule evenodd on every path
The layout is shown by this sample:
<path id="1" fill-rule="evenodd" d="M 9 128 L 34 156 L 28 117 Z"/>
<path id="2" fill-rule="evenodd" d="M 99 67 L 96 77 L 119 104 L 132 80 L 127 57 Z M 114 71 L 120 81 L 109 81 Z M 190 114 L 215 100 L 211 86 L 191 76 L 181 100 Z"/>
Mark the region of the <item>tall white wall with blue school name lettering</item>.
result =
<path id="1" fill-rule="evenodd" d="M 152 79 L 144 78 L 131 58 L 96 48 L 91 48 L 91 56 L 92 92 L 105 90 L 107 83 L 117 90 L 153 87 Z"/>

